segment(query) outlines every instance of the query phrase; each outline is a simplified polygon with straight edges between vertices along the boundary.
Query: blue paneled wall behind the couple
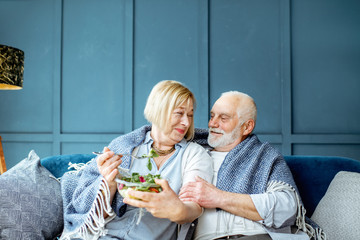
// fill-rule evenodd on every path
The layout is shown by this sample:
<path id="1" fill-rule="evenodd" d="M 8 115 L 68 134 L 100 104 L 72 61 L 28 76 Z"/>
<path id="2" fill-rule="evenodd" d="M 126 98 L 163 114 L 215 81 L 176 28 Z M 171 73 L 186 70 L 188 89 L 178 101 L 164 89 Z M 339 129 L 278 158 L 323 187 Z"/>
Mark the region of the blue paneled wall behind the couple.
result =
<path id="1" fill-rule="evenodd" d="M 146 123 L 160 80 L 196 95 L 196 126 L 228 90 L 258 105 L 285 155 L 360 160 L 357 0 L 0 0 L 0 43 L 25 51 L 24 88 L 0 91 L 8 168 L 101 150 Z"/>

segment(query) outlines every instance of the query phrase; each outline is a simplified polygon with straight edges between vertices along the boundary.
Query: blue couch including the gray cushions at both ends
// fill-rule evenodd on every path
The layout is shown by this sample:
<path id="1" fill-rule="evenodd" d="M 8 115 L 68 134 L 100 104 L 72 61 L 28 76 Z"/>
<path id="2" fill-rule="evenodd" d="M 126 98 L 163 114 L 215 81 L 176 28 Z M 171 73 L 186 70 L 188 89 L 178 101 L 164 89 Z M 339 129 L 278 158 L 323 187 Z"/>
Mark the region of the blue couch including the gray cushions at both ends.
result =
<path id="1" fill-rule="evenodd" d="M 69 171 L 70 162 L 86 163 L 93 157 L 72 154 L 40 159 L 31 151 L 27 158 L 0 175 L 0 239 L 59 236 L 63 206 L 57 178 Z M 359 239 L 360 161 L 323 156 L 286 156 L 285 160 L 306 215 L 320 225 L 328 239 Z"/>

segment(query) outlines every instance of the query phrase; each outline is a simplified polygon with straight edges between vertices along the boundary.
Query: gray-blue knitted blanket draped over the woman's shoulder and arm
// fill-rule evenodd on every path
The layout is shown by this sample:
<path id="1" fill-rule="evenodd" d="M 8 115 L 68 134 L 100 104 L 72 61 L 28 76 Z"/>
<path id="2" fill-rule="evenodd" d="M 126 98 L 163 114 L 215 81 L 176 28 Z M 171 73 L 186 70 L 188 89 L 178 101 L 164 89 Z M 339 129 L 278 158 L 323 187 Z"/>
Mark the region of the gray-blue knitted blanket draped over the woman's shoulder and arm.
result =
<path id="1" fill-rule="evenodd" d="M 145 139 L 146 132 L 150 131 L 150 129 L 150 126 L 143 126 L 131 133 L 122 135 L 114 139 L 109 144 L 109 148 L 115 153 L 131 153 Z M 129 168 L 130 157 L 123 156 L 122 159 L 121 166 Z M 104 188 L 103 185 L 102 175 L 98 171 L 95 159 L 92 159 L 81 171 L 64 174 L 61 179 L 61 192 L 64 206 L 64 229 L 66 232 L 80 231 L 79 229 L 86 224 L 88 224 L 87 228 L 89 226 L 94 227 L 91 225 L 92 223 L 89 223 L 89 221 L 93 221 L 89 219 L 89 215 L 91 215 L 91 212 L 95 212 L 94 202 L 97 200 L 99 189 Z M 97 207 L 101 208 L 102 206 L 98 205 Z M 111 208 L 118 216 L 125 213 L 126 205 L 118 192 L 114 197 Z M 93 214 L 91 217 L 96 216 Z M 105 223 L 102 219 L 97 220 L 99 221 L 96 223 L 97 225 Z M 103 233 L 96 232 L 96 234 L 101 235 Z"/>

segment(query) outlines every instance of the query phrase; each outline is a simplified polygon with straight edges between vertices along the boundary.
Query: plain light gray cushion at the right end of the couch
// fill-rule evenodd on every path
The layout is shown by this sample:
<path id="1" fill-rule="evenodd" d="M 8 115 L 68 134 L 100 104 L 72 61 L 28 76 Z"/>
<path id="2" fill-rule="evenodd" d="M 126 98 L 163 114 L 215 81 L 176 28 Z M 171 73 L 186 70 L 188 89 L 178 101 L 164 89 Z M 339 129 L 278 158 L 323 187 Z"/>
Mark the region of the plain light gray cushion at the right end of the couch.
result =
<path id="1" fill-rule="evenodd" d="M 359 239 L 360 173 L 341 171 L 316 207 L 311 219 L 328 239 Z"/>

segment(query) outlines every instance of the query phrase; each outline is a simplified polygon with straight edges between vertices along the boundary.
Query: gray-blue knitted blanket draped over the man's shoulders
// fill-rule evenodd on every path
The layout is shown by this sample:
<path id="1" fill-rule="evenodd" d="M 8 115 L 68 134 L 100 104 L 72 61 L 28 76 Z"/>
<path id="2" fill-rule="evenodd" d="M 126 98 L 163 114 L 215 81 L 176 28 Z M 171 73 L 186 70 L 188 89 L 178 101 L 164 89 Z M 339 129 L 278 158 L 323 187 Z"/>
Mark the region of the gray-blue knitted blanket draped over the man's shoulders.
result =
<path id="1" fill-rule="evenodd" d="M 209 147 L 207 136 L 208 129 L 195 129 L 194 141 Z M 218 172 L 216 186 L 228 192 L 259 194 L 269 191 L 270 183 L 294 189 L 299 201 L 296 225 L 310 239 L 326 239 L 322 229 L 305 217 L 306 210 L 284 157 L 269 143 L 260 142 L 255 134 L 248 136 L 226 155 Z"/>

